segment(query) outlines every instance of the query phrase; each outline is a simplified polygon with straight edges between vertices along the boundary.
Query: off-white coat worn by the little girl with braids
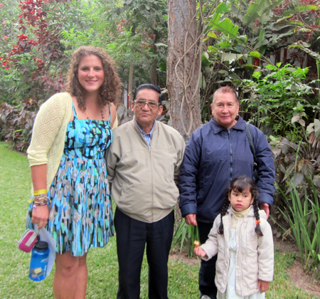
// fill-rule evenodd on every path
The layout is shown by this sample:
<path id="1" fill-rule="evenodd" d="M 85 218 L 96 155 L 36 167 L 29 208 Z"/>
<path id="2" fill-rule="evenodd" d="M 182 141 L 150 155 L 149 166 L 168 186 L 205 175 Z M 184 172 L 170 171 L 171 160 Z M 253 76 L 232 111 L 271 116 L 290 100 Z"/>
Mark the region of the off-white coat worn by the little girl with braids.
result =
<path id="1" fill-rule="evenodd" d="M 220 214 L 213 223 L 208 240 L 201 248 L 206 251 L 207 256 L 203 260 L 215 256 L 218 253 L 218 260 L 215 264 L 215 285 L 221 293 L 225 293 L 229 273 L 229 240 L 231 217 L 234 217 L 231 207 L 223 216 L 224 234 L 218 234 L 220 226 Z M 265 211 L 260 210 L 260 226 L 263 236 L 255 233 L 255 214 L 253 207 L 243 219 L 237 223 L 236 242 L 236 271 L 235 291 L 237 295 L 249 296 L 260 292 L 257 290 L 258 280 L 272 281 L 274 271 L 274 248 L 272 229 L 267 222 Z"/>

